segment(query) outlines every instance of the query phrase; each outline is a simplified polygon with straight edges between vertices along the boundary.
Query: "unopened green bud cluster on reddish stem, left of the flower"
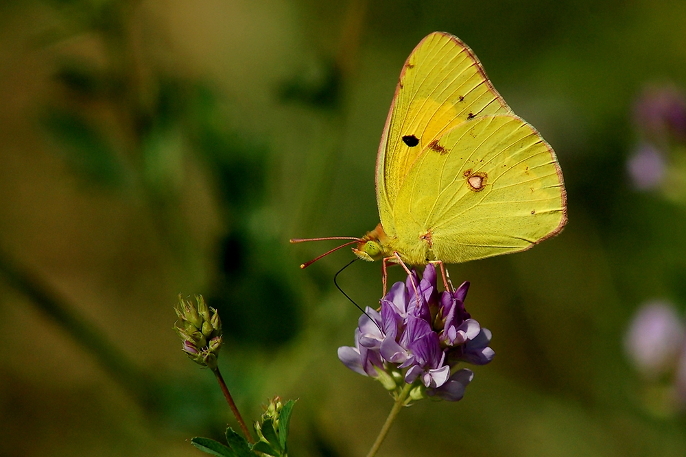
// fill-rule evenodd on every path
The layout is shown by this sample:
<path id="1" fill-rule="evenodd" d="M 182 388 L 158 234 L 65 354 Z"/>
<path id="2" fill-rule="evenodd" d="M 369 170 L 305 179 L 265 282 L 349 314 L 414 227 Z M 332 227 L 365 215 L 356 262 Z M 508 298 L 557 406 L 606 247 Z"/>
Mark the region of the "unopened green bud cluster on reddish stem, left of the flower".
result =
<path id="1" fill-rule="evenodd" d="M 217 310 L 205 304 L 202 295 L 196 295 L 196 303 L 197 306 L 178 296 L 178 306 L 174 310 L 179 320 L 174 330 L 183 340 L 181 350 L 193 362 L 215 369 L 222 347 L 222 321 Z"/>

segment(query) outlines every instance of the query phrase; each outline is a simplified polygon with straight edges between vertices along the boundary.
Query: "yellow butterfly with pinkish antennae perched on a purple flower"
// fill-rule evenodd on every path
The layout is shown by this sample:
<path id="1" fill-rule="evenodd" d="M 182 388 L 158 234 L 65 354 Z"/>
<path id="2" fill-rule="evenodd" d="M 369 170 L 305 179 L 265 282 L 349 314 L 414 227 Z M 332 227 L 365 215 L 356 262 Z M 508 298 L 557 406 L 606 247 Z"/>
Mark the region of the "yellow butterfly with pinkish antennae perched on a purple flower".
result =
<path id="1" fill-rule="evenodd" d="M 333 239 L 353 239 L 343 246 L 356 243 L 359 258 L 383 259 L 384 285 L 387 261 L 442 266 L 524 251 L 567 222 L 552 147 L 512 112 L 471 49 L 442 32 L 403 66 L 376 188 L 381 223 L 362 238 Z"/>

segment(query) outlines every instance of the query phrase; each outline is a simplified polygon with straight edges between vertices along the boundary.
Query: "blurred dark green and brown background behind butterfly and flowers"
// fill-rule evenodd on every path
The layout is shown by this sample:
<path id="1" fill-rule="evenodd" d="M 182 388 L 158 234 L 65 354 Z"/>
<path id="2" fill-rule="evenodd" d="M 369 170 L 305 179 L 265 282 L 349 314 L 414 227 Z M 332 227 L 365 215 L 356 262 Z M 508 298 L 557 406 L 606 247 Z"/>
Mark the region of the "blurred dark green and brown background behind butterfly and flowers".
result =
<path id="1" fill-rule="evenodd" d="M 178 293 L 220 309 L 245 417 L 299 398 L 294 456 L 364 455 L 392 401 L 336 357 L 352 254 L 300 271 L 334 244 L 287 240 L 375 227 L 383 123 L 435 30 L 553 145 L 569 223 L 450 267 L 495 360 L 379 456 L 686 455 L 681 406 L 623 349 L 643 302 L 686 305 L 686 199 L 626 171 L 637 99 L 686 87 L 685 24 L 682 0 L 2 1 L 0 456 L 202 455 L 186 440 L 235 428 L 171 330 Z M 381 266 L 340 284 L 374 306 Z"/>

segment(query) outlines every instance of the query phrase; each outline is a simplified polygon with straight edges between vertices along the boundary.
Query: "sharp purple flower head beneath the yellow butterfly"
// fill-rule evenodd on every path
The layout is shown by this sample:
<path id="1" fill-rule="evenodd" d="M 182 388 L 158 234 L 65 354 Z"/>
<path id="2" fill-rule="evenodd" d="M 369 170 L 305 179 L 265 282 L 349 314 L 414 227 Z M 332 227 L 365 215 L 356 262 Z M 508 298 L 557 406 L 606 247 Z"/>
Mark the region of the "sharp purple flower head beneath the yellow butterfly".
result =
<path id="1" fill-rule="evenodd" d="M 381 310 L 367 308 L 355 330 L 355 347 L 340 347 L 338 357 L 357 373 L 381 378 L 392 390 L 397 382 L 421 388 L 423 396 L 457 401 L 473 378 L 459 362 L 484 365 L 495 356 L 490 331 L 464 309 L 469 283 L 438 293 L 436 269 L 428 264 L 393 284 L 381 299 Z M 388 380 L 391 380 L 389 383 Z"/>

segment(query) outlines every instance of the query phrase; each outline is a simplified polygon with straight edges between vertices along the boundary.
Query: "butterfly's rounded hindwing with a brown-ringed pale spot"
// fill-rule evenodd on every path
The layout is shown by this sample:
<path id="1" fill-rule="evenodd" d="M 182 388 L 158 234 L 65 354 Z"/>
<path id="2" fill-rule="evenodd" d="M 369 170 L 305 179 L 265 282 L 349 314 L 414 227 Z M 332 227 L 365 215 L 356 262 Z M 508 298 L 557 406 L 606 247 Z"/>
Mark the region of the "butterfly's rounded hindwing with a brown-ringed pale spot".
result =
<path id="1" fill-rule="evenodd" d="M 523 251 L 567 221 L 562 171 L 552 148 L 519 117 L 477 117 L 417 158 L 394 217 L 394 249 L 412 264 Z"/>

